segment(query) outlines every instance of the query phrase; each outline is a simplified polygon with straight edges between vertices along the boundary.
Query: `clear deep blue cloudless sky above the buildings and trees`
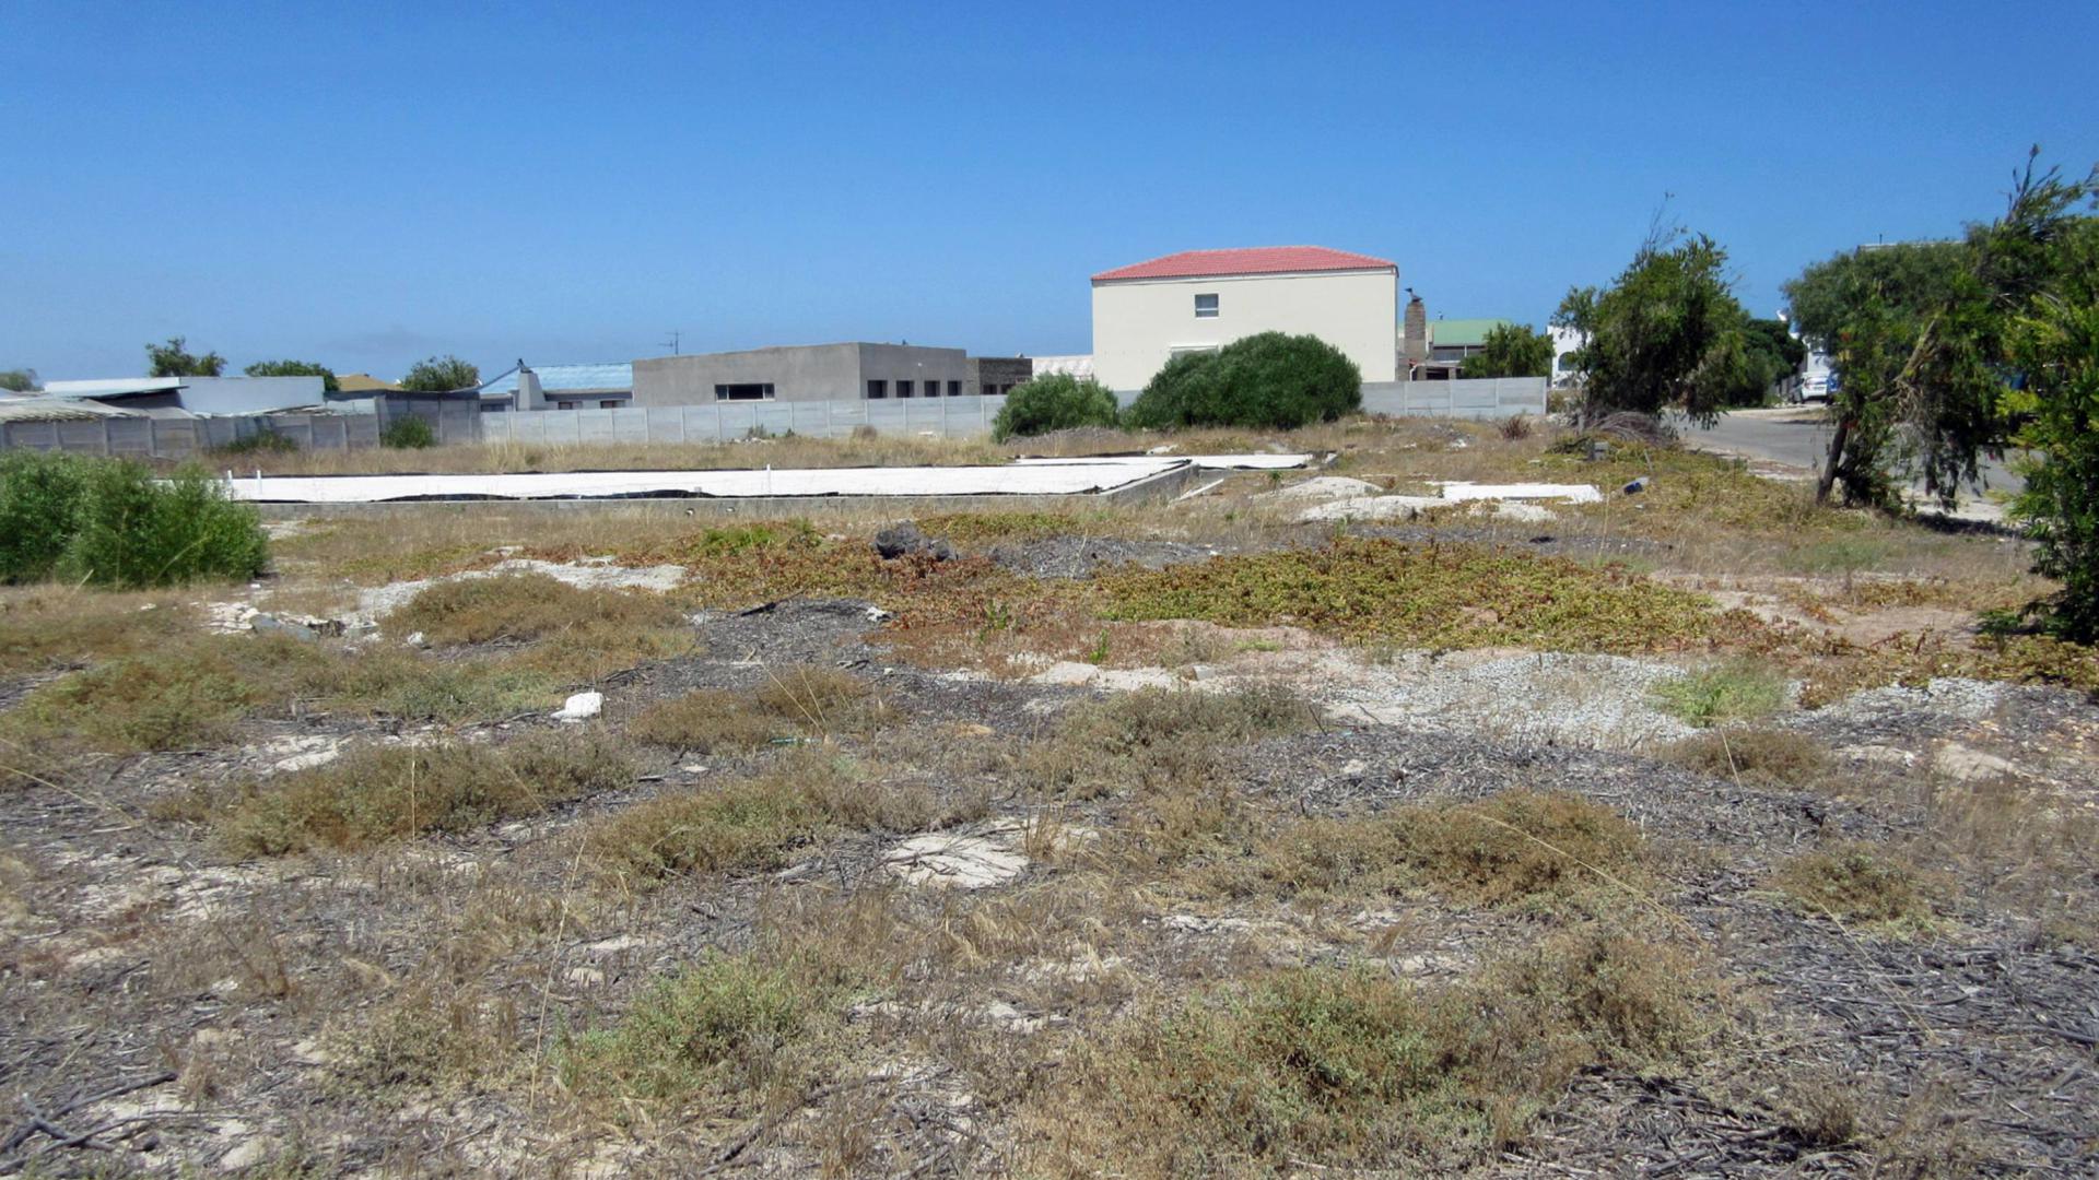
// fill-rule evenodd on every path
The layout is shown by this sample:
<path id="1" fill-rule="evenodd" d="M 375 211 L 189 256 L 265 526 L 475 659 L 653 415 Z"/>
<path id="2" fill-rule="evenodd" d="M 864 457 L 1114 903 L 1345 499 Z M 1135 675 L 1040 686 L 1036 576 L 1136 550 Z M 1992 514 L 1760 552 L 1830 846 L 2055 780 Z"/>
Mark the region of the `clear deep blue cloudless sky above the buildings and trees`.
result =
<path id="1" fill-rule="evenodd" d="M 2099 160 L 2099 4 L 0 0 L 0 367 L 1089 349 L 1087 275 L 1320 244 L 1543 323 L 1656 206 L 1805 262 Z"/>

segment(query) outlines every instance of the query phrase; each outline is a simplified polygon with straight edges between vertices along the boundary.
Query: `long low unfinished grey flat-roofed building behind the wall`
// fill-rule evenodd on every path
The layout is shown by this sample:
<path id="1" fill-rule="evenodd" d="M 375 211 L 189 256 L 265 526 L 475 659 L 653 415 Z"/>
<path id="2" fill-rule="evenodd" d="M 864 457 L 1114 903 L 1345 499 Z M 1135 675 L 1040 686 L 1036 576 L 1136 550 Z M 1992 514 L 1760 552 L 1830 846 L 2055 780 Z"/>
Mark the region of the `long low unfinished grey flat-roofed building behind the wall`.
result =
<path id="1" fill-rule="evenodd" d="M 999 395 L 1033 372 L 1026 357 L 970 357 L 961 349 L 793 344 L 634 361 L 632 395 L 634 405 Z"/>

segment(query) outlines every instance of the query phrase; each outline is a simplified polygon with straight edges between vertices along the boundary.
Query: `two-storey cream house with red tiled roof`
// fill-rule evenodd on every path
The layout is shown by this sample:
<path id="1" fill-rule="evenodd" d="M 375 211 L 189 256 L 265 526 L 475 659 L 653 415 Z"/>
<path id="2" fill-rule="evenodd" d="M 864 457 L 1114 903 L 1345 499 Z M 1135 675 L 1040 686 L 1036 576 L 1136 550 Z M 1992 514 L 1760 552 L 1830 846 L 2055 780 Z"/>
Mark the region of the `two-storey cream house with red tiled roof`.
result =
<path id="1" fill-rule="evenodd" d="M 1094 275 L 1094 376 L 1144 388 L 1178 353 L 1255 332 L 1318 336 L 1362 370 L 1398 378 L 1400 269 L 1324 246 L 1184 250 Z"/>

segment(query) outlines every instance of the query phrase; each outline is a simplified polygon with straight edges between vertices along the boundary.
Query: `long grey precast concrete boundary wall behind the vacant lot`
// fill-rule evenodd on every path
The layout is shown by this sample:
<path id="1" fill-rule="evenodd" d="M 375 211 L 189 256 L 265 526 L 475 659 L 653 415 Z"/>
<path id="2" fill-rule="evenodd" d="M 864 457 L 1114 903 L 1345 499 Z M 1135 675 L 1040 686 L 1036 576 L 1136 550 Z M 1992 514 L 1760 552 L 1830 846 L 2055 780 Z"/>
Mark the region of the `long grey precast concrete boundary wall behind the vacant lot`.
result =
<path id="1" fill-rule="evenodd" d="M 1117 395 L 1125 405 L 1136 393 Z M 804 435 L 840 439 L 858 428 L 879 435 L 980 439 L 1003 397 L 921 397 L 890 401 L 718 401 L 626 409 L 521 409 L 479 414 L 472 405 L 414 409 L 430 422 L 439 445 L 508 443 L 581 447 L 602 443 L 728 443 L 735 439 Z M 1369 382 L 1364 414 L 1394 418 L 1509 418 L 1545 414 L 1545 378 Z M 0 445 L 90 456 L 187 460 L 275 433 L 300 449 L 325 451 L 380 445 L 390 414 L 275 414 L 269 418 L 82 418 L 0 424 Z M 237 462 L 235 462 L 237 466 Z"/>

